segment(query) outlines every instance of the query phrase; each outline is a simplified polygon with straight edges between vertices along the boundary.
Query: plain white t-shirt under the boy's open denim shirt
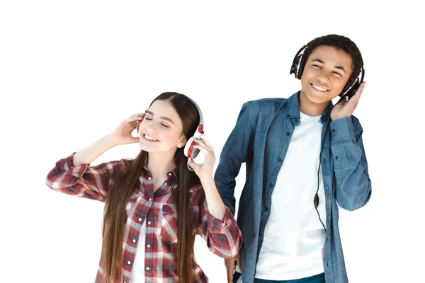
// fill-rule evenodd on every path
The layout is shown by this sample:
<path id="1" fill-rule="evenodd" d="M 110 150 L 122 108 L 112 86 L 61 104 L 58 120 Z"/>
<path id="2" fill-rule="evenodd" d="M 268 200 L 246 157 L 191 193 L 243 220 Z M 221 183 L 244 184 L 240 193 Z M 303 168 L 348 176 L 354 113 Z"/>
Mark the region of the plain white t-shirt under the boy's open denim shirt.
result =
<path id="1" fill-rule="evenodd" d="M 271 214 L 256 265 L 256 278 L 291 280 L 324 272 L 326 211 L 322 170 L 314 208 L 322 139 L 320 117 L 300 112 L 271 196 Z M 242 266 L 243 268 L 243 266 Z"/>

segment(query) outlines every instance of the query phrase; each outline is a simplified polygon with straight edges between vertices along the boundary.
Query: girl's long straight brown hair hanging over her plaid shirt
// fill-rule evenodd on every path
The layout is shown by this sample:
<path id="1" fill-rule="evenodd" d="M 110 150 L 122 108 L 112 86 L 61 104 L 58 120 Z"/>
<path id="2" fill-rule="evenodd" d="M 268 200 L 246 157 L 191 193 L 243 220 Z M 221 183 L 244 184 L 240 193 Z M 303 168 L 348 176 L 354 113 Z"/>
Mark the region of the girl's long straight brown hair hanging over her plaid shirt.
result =
<path id="1" fill-rule="evenodd" d="M 181 93 L 162 93 L 155 100 L 169 100 L 176 109 L 183 124 L 183 134 L 189 139 L 196 132 L 200 122 L 200 116 L 196 105 Z M 151 105 L 152 105 L 151 103 Z M 193 243 L 196 236 L 197 224 L 191 217 L 189 189 L 193 183 L 198 182 L 198 176 L 187 168 L 187 157 L 184 155 L 184 147 L 178 149 L 174 155 L 177 166 L 177 180 L 171 184 L 171 192 L 176 202 L 177 209 L 177 236 L 179 239 L 177 249 L 177 275 L 179 282 L 193 283 Z M 125 229 L 125 205 L 127 204 L 132 190 L 138 182 L 139 176 L 145 170 L 148 153 L 140 151 L 140 154 L 130 162 L 128 168 L 121 173 L 115 185 L 108 193 L 103 216 L 103 243 L 101 265 L 106 283 L 120 282 L 122 277 L 123 260 L 123 233 Z"/>

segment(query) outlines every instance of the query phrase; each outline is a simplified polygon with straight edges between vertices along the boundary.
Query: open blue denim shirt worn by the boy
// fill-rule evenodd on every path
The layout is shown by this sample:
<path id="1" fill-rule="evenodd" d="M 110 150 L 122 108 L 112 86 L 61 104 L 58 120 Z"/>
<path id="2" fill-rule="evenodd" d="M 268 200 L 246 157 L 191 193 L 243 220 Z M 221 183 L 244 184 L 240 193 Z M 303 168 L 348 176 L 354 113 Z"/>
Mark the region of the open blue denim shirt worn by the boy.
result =
<path id="1" fill-rule="evenodd" d="M 244 238 L 241 250 L 244 283 L 254 282 L 270 216 L 271 194 L 293 131 L 300 125 L 299 93 L 288 99 L 266 98 L 244 103 L 215 172 L 222 200 L 234 214 L 235 178 L 242 163 L 246 164 L 237 215 Z M 360 122 L 354 116 L 331 121 L 331 108 L 330 102 L 321 117 L 324 145 L 320 158 L 327 214 L 323 264 L 326 282 L 341 283 L 348 279 L 339 237 L 337 203 L 348 210 L 363 207 L 370 199 L 371 185 Z"/>

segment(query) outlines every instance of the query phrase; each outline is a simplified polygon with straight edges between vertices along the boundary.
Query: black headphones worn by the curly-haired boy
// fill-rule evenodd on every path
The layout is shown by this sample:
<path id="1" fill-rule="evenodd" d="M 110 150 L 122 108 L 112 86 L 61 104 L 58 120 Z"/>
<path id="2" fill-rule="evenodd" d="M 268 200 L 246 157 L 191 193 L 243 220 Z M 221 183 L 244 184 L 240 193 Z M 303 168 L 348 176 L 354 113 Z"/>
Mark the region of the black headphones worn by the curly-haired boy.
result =
<path id="1" fill-rule="evenodd" d="M 290 67 L 290 73 L 289 74 L 295 74 L 296 79 L 301 79 L 302 71 L 304 71 L 305 62 L 302 61 L 302 55 L 304 54 L 304 51 L 307 49 L 308 45 L 304 45 L 301 47 L 300 50 L 298 50 L 297 54 L 294 57 L 293 64 Z M 347 99 L 350 99 L 351 96 L 353 96 L 356 91 L 358 90 L 358 87 L 363 82 L 363 79 L 365 77 L 365 69 L 363 69 L 363 65 L 361 66 L 360 74 L 354 79 L 354 81 L 348 81 L 344 88 L 342 89 L 341 93 L 339 93 L 339 96 L 341 98 L 345 97 Z"/>

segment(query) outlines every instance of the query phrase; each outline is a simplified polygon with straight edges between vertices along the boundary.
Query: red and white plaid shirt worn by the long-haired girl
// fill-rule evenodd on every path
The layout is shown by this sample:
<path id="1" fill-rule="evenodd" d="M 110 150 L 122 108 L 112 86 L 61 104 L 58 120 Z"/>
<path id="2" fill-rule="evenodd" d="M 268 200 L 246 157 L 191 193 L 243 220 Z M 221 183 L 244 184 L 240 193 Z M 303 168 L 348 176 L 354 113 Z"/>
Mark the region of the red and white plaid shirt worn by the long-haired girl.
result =
<path id="1" fill-rule="evenodd" d="M 130 163 L 127 159 L 102 163 L 98 166 L 81 164 L 74 166 L 73 156 L 57 161 L 47 175 L 46 184 L 68 195 L 86 197 L 105 202 L 115 177 Z M 145 168 L 146 169 L 146 168 Z M 152 175 L 145 170 L 134 188 L 125 208 L 123 242 L 123 280 L 130 282 L 140 229 L 146 222 L 145 236 L 145 282 L 179 282 L 176 276 L 177 221 L 176 205 L 169 184 L 176 180 L 176 169 L 168 173 L 168 180 L 157 190 Z M 215 218 L 208 212 L 205 192 L 199 184 L 191 187 L 191 207 L 198 219 L 198 230 L 208 248 L 222 258 L 232 258 L 239 253 L 242 234 L 226 207 L 224 219 Z M 195 282 L 208 282 L 198 265 L 194 270 Z M 99 263 L 96 283 L 104 282 L 102 262 Z"/>

